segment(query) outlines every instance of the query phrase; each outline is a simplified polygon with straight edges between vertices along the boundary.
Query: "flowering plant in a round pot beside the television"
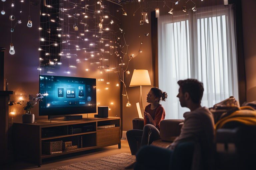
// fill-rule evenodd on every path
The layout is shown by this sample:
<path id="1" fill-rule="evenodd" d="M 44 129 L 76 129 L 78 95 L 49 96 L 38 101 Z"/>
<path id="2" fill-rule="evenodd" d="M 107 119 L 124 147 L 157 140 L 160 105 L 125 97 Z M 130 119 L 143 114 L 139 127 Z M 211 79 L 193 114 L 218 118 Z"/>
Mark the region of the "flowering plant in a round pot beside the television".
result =
<path id="1" fill-rule="evenodd" d="M 23 107 L 26 111 L 26 114 L 22 115 L 22 123 L 34 123 L 35 115 L 31 114 L 31 109 L 37 104 L 37 102 L 42 101 L 43 96 L 38 93 L 36 96 L 29 95 L 29 101 L 27 101 L 26 105 Z M 17 104 L 22 105 L 24 101 L 19 101 Z"/>

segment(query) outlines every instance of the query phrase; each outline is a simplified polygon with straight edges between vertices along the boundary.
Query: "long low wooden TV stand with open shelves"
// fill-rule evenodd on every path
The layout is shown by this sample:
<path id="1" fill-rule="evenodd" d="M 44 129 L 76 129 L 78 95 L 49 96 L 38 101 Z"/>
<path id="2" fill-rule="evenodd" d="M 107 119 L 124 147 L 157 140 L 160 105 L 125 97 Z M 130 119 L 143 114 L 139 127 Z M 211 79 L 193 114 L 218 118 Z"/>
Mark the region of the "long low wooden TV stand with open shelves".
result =
<path id="1" fill-rule="evenodd" d="M 121 148 L 120 118 L 87 118 L 72 121 L 37 120 L 34 124 L 13 124 L 14 155 L 16 159 L 34 162 L 42 159 L 81 152 L 111 145 Z M 83 139 L 83 140 L 81 140 Z M 42 142 L 72 141 L 76 149 L 62 153 L 43 154 Z"/>

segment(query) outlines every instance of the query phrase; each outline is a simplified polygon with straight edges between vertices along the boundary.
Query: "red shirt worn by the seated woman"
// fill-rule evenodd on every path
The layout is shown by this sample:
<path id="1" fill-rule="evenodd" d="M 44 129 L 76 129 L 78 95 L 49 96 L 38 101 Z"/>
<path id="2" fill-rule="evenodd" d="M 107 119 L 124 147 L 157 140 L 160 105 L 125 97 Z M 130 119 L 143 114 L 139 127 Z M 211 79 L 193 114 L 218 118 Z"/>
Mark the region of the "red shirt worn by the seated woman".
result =
<path id="1" fill-rule="evenodd" d="M 158 130 L 160 130 L 160 122 L 162 120 L 164 120 L 164 118 L 165 118 L 165 110 L 162 107 L 162 105 L 160 105 L 160 104 L 154 110 L 151 110 L 150 106 L 151 106 L 151 104 L 149 104 L 148 106 L 145 107 L 145 112 L 150 114 L 150 116 L 156 123 L 156 128 L 158 128 Z M 148 118 L 144 117 L 144 126 L 146 124 L 149 124 L 149 120 L 148 120 Z"/>

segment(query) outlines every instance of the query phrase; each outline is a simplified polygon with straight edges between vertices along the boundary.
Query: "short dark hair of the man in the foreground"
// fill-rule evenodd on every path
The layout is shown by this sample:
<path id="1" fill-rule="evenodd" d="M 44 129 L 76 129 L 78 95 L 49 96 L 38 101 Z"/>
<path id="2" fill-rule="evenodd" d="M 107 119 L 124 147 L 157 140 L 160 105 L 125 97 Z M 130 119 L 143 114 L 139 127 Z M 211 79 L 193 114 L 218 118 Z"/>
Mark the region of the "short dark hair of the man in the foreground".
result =
<path id="1" fill-rule="evenodd" d="M 186 79 L 179 80 L 178 85 L 181 87 L 182 93 L 188 92 L 191 100 L 194 103 L 201 103 L 203 93 L 204 93 L 204 85 L 202 82 L 197 79 Z"/>

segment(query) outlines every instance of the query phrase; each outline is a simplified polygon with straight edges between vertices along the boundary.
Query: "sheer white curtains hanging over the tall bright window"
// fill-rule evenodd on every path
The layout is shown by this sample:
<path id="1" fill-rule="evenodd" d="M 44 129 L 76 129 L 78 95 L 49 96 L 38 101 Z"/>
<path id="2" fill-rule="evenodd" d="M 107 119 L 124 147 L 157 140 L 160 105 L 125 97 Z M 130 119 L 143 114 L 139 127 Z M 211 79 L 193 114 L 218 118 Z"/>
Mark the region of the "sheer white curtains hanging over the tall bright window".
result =
<path id="1" fill-rule="evenodd" d="M 234 96 L 238 100 L 237 56 L 232 5 L 198 8 L 158 18 L 159 88 L 166 119 L 183 119 L 176 95 L 178 80 L 196 78 L 204 84 L 202 106 Z"/>

